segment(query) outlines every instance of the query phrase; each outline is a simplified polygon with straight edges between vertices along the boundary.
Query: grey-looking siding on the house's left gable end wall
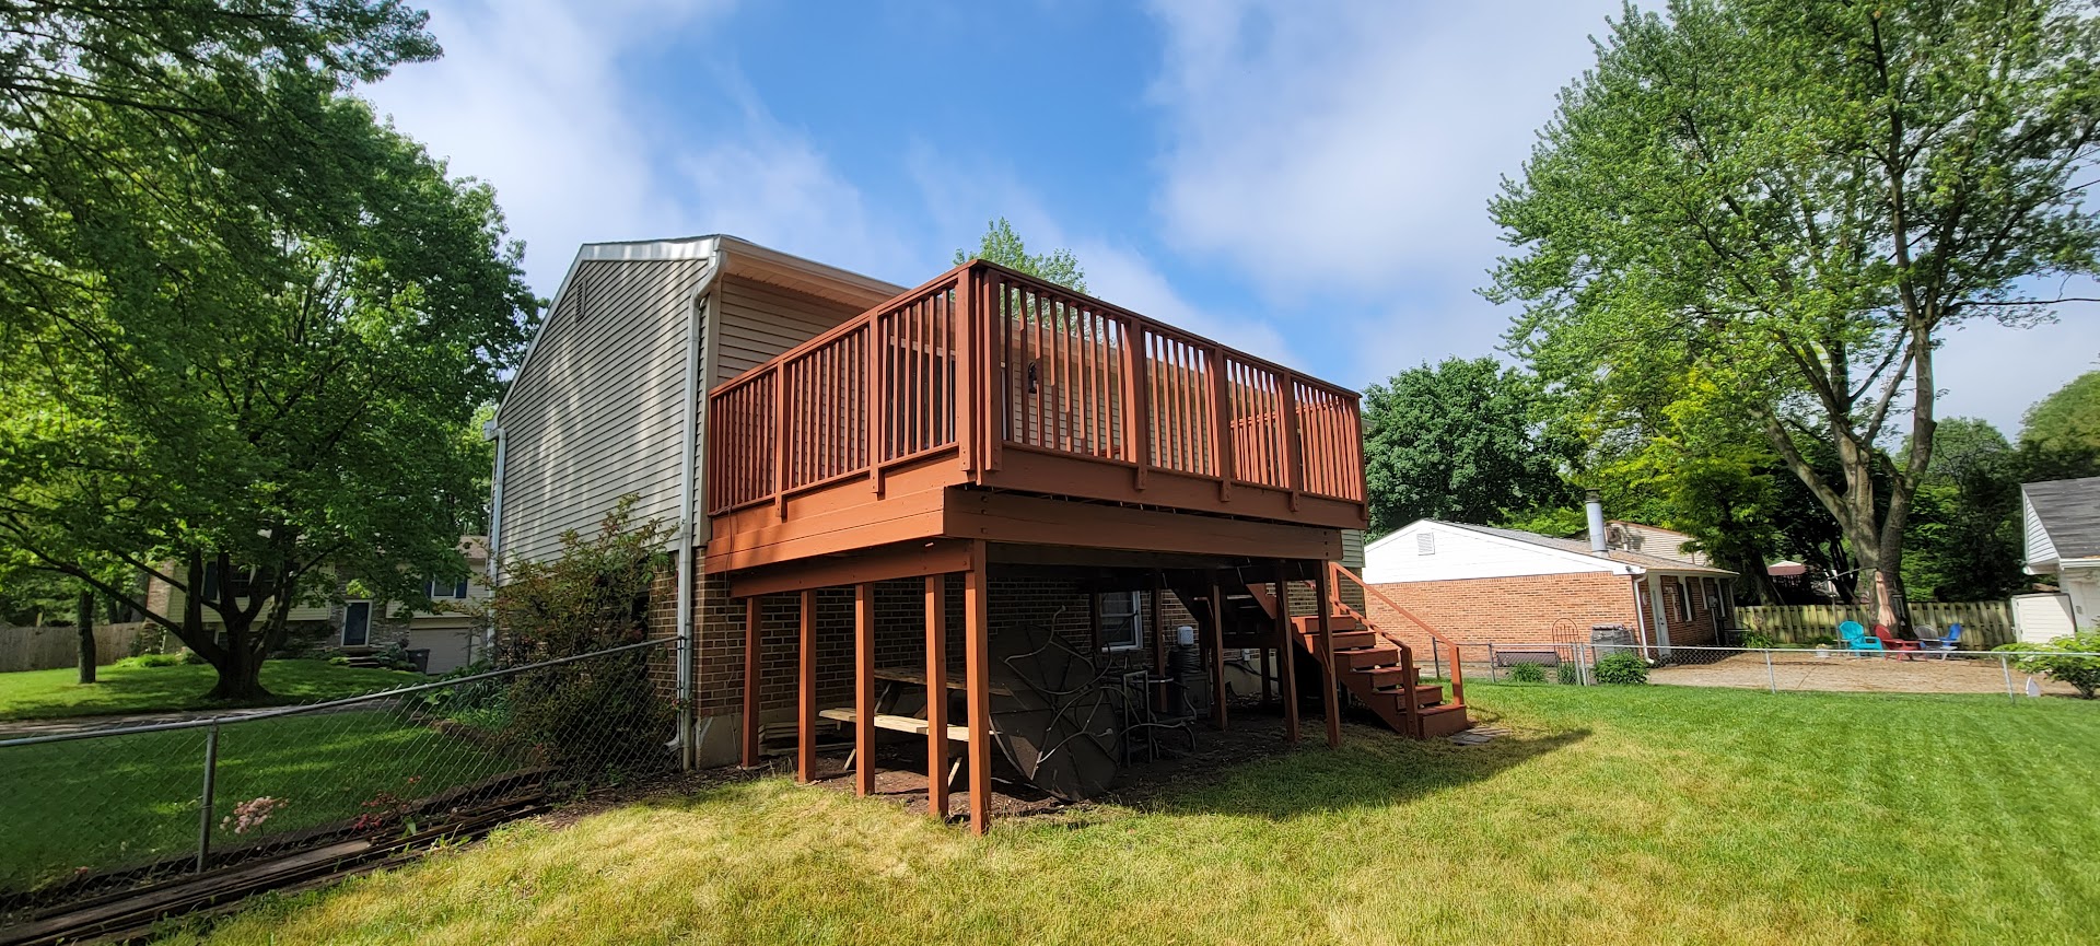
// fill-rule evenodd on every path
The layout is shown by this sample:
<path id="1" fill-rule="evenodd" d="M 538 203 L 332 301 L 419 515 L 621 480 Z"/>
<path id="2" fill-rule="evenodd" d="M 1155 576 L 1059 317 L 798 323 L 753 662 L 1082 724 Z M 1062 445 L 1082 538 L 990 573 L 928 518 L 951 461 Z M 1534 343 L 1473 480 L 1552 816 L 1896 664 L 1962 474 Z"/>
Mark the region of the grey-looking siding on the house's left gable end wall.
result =
<path id="1" fill-rule="evenodd" d="M 678 518 L 687 323 L 708 260 L 580 260 L 498 424 L 502 554 L 546 560 L 636 493 Z"/>

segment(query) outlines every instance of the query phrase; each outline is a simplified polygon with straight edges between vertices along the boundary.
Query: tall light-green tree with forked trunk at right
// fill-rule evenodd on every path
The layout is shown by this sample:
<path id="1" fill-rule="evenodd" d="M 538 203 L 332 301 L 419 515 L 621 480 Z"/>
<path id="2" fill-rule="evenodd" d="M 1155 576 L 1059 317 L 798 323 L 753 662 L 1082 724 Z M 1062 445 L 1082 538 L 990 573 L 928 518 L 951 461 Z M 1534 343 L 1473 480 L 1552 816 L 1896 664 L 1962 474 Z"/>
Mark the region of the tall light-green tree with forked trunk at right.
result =
<path id="1" fill-rule="evenodd" d="M 1628 6 L 1491 203 L 1514 254 L 1487 294 L 1525 304 L 1510 344 L 1571 396 L 1712 378 L 1877 596 L 1949 329 L 2043 317 L 2037 277 L 2094 271 L 2096 50 L 2062 0 Z M 1900 466 L 1896 426 L 1922 445 Z"/>

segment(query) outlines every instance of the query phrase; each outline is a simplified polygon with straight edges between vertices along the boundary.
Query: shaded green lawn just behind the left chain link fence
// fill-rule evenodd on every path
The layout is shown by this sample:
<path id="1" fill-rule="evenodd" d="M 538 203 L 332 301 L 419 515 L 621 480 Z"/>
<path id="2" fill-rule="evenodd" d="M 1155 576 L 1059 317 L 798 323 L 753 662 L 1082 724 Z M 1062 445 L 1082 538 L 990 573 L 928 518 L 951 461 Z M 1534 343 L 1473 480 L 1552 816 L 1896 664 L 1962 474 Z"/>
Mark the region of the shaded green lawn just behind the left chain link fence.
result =
<path id="1" fill-rule="evenodd" d="M 174 730 L 0 749 L 0 891 L 193 854 L 204 738 Z M 426 797 L 514 768 L 393 709 L 223 726 L 214 831 L 242 801 L 286 805 L 246 835 L 216 831 L 214 847 L 357 818 L 380 793 Z"/>

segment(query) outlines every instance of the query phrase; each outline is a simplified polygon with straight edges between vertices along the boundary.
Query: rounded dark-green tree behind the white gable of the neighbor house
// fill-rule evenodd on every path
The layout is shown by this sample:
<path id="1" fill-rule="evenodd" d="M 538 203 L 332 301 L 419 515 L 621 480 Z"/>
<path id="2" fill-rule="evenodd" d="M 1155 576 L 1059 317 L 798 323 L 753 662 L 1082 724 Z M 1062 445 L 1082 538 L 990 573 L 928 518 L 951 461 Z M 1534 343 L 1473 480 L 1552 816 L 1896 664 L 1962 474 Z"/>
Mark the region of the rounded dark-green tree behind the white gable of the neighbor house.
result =
<path id="1" fill-rule="evenodd" d="M 1445 359 L 1363 392 L 1371 533 L 1418 518 L 1502 522 L 1564 499 L 1564 451 L 1537 422 L 1537 382 L 1495 359 Z"/>

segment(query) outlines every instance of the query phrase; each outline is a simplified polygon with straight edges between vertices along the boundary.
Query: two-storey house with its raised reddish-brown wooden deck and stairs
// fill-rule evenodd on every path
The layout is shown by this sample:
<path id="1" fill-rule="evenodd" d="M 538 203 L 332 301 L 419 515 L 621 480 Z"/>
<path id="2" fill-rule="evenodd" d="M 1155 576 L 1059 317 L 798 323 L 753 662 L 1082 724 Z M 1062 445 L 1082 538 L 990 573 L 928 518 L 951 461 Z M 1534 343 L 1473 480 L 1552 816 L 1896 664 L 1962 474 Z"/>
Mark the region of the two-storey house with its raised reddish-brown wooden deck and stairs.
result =
<path id="1" fill-rule="evenodd" d="M 983 829 L 993 740 L 1044 784 L 1023 726 L 1084 719 L 1058 764 L 1111 753 L 1226 661 L 1281 690 L 1292 738 L 1304 667 L 1334 684 L 1306 688 L 1329 740 L 1342 686 L 1411 736 L 1466 726 L 1336 589 L 1365 524 L 1357 401 L 983 260 L 907 289 L 729 235 L 590 243 L 489 426 L 491 541 L 546 560 L 632 495 L 676 535 L 651 631 L 678 642 L 655 671 L 689 764 L 792 745 L 813 778 L 842 722 L 857 787 L 882 728 L 926 740 L 932 789 L 958 740 Z M 1042 654 L 1094 678 L 1046 688 L 1021 667 Z M 922 717 L 878 698 L 909 678 Z M 949 688 L 958 715 L 924 696 Z M 1115 709 L 1065 711 L 1094 694 Z"/>

